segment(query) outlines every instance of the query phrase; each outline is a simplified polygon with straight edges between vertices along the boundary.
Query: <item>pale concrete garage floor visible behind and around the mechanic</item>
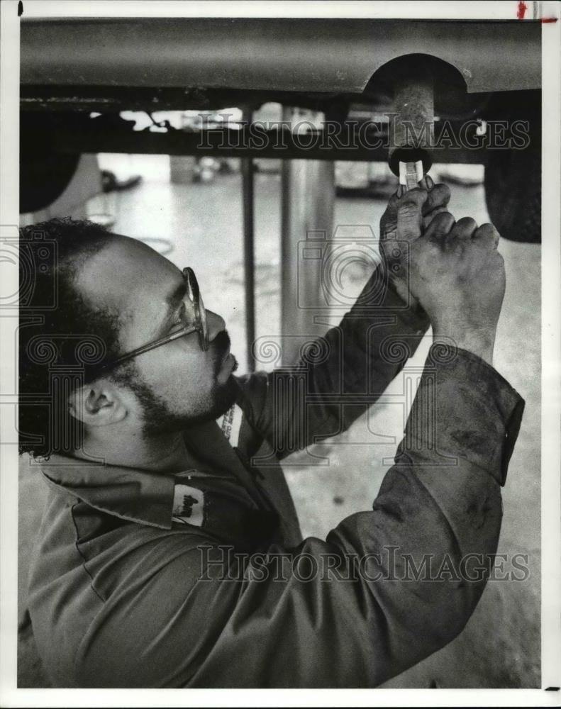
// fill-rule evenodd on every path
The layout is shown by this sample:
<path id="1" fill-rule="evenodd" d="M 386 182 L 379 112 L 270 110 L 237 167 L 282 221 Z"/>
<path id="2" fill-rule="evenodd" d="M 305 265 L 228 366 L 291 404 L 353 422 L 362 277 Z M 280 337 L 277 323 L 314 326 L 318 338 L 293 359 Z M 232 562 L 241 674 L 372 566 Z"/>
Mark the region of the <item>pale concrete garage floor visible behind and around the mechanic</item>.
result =
<path id="1" fill-rule="evenodd" d="M 167 256 L 195 269 L 208 308 L 226 320 L 232 351 L 245 369 L 243 242 L 239 174 L 212 184 L 170 184 L 167 158 L 122 157 L 102 165 L 140 172 L 143 184 L 96 199 L 91 213 L 111 211 L 114 230 L 140 239 L 167 239 Z M 118 169 L 117 169 L 118 172 Z M 280 181 L 278 174 L 255 176 L 257 337 L 279 334 Z M 384 202 L 338 199 L 335 224 L 372 225 L 379 235 Z M 487 221 L 482 186 L 452 186 L 450 211 L 460 218 Z M 303 237 L 304 238 L 304 235 Z M 160 242 L 154 242 L 162 247 Z M 460 637 L 440 652 L 389 681 L 387 687 L 499 688 L 540 686 L 540 247 L 501 240 L 506 262 L 506 296 L 496 341 L 495 367 L 526 399 L 526 412 L 509 478 L 503 491 L 504 521 L 499 554 L 528 554 L 526 581 L 490 581 Z M 351 274 L 357 293 L 368 277 Z M 413 364 L 422 367 L 423 343 Z M 399 401 L 399 377 L 391 385 Z M 295 454 L 284 469 L 304 535 L 325 537 L 345 516 L 371 507 L 404 428 L 404 407 L 380 404 L 336 440 L 316 446 L 327 467 L 310 467 Z M 374 445 L 372 432 L 390 442 Z M 385 463 L 383 462 L 385 460 Z M 552 474 L 545 462 L 545 474 Z M 40 507 L 33 497 L 32 471 L 21 465 L 20 546 L 26 548 L 30 520 Z M 34 502 L 35 500 L 35 502 Z M 32 527 L 33 528 L 33 527 Z M 510 556 L 509 556 L 510 558 Z M 21 573 L 25 569 L 25 559 Z M 512 567 L 505 565 L 508 571 Z M 22 579 L 23 580 L 23 579 Z M 30 642 L 27 640 L 26 642 Z M 25 661 L 27 662 L 27 660 Z M 25 664 L 24 662 L 24 664 Z M 45 686 L 40 667 L 20 667 L 20 686 Z"/>

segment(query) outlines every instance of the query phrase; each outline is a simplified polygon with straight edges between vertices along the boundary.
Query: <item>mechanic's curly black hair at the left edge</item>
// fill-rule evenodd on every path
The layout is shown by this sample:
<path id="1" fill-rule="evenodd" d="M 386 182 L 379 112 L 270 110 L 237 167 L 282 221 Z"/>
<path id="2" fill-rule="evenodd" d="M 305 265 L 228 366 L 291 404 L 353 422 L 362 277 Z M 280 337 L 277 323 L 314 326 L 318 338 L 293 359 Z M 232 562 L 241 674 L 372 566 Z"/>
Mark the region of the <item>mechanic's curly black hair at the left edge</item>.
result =
<path id="1" fill-rule="evenodd" d="M 118 313 L 79 293 L 87 258 L 113 238 L 87 220 L 51 219 L 20 229 L 19 452 L 48 458 L 82 445 L 67 399 L 119 354 Z M 132 367 L 116 378 L 132 376 Z"/>

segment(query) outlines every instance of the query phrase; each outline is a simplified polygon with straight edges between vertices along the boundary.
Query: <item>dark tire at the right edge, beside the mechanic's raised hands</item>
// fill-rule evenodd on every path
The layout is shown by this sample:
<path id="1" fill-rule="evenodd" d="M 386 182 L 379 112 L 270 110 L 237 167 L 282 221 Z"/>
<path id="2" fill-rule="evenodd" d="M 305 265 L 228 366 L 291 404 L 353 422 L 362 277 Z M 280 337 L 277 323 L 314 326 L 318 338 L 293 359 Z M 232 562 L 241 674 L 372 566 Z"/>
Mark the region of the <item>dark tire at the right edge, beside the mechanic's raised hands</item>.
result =
<path id="1" fill-rule="evenodd" d="M 541 151 L 489 150 L 485 201 L 491 222 L 511 241 L 541 242 Z"/>

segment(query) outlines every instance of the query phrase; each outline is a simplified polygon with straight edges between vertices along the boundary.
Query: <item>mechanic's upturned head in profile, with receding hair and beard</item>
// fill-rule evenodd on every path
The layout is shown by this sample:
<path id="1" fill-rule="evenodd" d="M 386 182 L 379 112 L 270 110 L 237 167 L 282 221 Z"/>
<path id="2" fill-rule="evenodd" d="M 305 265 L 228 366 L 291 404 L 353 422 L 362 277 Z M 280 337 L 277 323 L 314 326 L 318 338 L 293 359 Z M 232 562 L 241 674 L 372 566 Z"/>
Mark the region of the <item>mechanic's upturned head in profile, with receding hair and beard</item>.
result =
<path id="1" fill-rule="evenodd" d="M 61 411 L 53 411 L 52 401 L 48 411 L 43 407 L 43 413 L 37 406 L 21 404 L 21 451 L 37 455 L 60 450 L 52 443 L 61 439 L 52 431 L 53 425 L 68 429 L 69 425 L 76 428 L 78 422 L 81 432 L 106 440 L 121 435 L 123 427 L 129 434 L 138 431 L 140 437 L 150 437 L 188 428 L 226 411 L 235 395 L 230 376 L 235 359 L 227 356 L 230 340 L 224 321 L 211 311 L 206 311 L 209 350 L 201 349 L 193 332 L 116 368 L 100 368 L 189 323 L 192 308 L 184 297 L 182 272 L 174 264 L 142 242 L 87 222 L 51 220 L 23 230 L 23 238 L 31 230 L 55 240 L 58 250 L 51 272 L 37 278 L 33 305 L 41 307 L 42 294 L 52 283 L 56 284 L 58 305 L 43 313 L 43 324 L 21 330 L 20 393 L 33 396 L 46 390 L 61 399 L 60 391 L 52 391 L 53 364 L 67 372 L 82 364 L 72 360 L 70 350 L 76 352 L 75 346 L 60 347 L 65 336 L 68 340 L 100 337 L 106 353 L 102 362 L 82 367 L 83 385 L 69 386 L 68 382 L 76 379 L 67 378 L 68 389 L 64 401 L 59 402 Z M 52 335 L 58 343 L 57 362 L 47 366 L 30 355 L 30 342 L 38 333 Z M 33 445 L 23 440 L 24 434 L 47 438 L 44 445 Z M 77 447 L 78 440 L 67 441 L 66 452 Z"/>

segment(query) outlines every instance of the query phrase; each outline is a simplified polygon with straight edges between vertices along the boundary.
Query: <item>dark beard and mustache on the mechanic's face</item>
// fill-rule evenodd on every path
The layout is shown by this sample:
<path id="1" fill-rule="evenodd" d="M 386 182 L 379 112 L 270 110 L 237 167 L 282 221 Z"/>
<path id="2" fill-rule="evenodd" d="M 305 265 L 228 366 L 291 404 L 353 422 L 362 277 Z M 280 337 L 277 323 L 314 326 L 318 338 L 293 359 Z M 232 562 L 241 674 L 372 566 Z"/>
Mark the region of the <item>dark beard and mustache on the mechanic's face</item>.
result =
<path id="1" fill-rule="evenodd" d="M 230 337 L 226 330 L 216 335 L 212 345 L 215 350 L 213 372 L 216 379 L 223 359 L 230 347 Z M 235 372 L 236 369 L 238 369 L 238 362 L 235 362 L 233 371 Z M 230 376 L 224 384 L 215 381 L 205 401 L 204 411 L 185 414 L 171 411 L 165 399 L 146 384 L 140 378 L 138 372 L 130 372 L 126 383 L 138 397 L 138 401 L 140 401 L 143 408 L 143 438 L 151 438 L 165 433 L 182 432 L 203 423 L 214 421 L 233 406 L 239 392 L 238 384 L 233 376 Z"/>

